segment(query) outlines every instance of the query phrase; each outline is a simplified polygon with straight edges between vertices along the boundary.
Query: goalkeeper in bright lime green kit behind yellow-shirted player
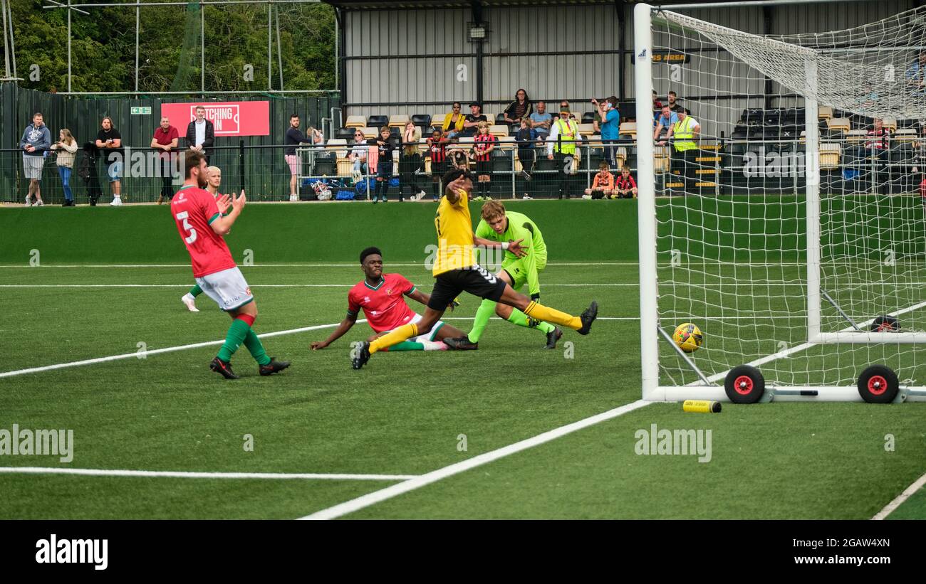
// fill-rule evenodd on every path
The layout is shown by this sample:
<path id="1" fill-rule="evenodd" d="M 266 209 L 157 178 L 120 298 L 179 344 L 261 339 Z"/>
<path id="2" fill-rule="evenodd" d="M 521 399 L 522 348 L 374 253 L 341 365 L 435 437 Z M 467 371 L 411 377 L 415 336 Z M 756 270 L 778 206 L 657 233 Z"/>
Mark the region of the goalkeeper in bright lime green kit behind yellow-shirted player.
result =
<path id="1" fill-rule="evenodd" d="M 499 201 L 487 201 L 482 205 L 482 221 L 476 227 L 476 237 L 492 241 L 521 241 L 521 247 L 527 249 L 527 255 L 519 258 L 510 251 L 505 252 L 505 260 L 497 277 L 509 284 L 515 291 L 527 284 L 531 298 L 540 298 L 540 280 L 538 275 L 546 267 L 546 245 L 537 225 L 525 214 L 506 211 Z M 546 335 L 546 348 L 556 348 L 559 337 L 563 335 L 557 327 L 549 322 L 535 321 L 518 309 L 498 304 L 492 300 L 482 300 L 476 310 L 476 319 L 469 335 L 445 338 L 444 344 L 455 349 L 474 349 L 479 347 L 479 339 L 485 325 L 493 314 L 507 322 L 519 326 L 535 328 Z"/>

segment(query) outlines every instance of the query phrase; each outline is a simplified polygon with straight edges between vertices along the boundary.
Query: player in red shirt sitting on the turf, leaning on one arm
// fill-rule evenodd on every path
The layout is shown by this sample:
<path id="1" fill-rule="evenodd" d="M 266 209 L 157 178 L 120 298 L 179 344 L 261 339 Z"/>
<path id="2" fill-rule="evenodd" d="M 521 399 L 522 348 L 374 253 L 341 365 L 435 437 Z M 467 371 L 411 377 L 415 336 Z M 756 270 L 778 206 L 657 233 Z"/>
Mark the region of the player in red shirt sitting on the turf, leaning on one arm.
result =
<path id="1" fill-rule="evenodd" d="M 408 322 L 421 322 L 421 315 L 408 308 L 404 296 L 427 304 L 430 294 L 425 294 L 401 274 L 382 273 L 382 251 L 379 248 L 367 248 L 360 252 L 360 267 L 366 278 L 357 282 L 347 293 L 347 316 L 334 329 L 332 335 L 324 341 L 312 343 L 313 349 L 325 348 L 341 338 L 357 322 L 360 309 L 367 317 L 370 328 L 376 331 L 367 339 L 373 341 L 378 336 L 394 331 Z M 453 310 L 454 305 L 450 305 Z M 463 333 L 456 328 L 438 321 L 431 333 L 393 345 L 382 350 L 389 351 L 444 351 L 448 347 L 442 340 L 448 336 L 460 336 Z"/>

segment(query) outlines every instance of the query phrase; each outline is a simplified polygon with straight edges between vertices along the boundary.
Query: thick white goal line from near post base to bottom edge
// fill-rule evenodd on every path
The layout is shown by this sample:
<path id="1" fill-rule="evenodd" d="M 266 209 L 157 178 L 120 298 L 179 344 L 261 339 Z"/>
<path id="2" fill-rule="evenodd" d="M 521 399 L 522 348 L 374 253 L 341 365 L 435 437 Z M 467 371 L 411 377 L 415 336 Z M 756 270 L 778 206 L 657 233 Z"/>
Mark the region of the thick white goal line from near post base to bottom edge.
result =
<path id="1" fill-rule="evenodd" d="M 572 422 L 571 424 L 567 424 L 566 426 L 560 426 L 559 428 L 550 430 L 548 432 L 544 432 L 542 434 L 537 434 L 536 436 L 533 436 L 532 438 L 521 440 L 520 442 L 516 442 L 515 444 L 508 444 L 507 446 L 484 453 L 482 455 L 473 456 L 472 458 L 462 460 L 460 462 L 446 466 L 444 468 L 438 468 L 437 470 L 432 470 L 431 472 L 415 477 L 414 479 L 410 479 L 404 482 L 399 482 L 392 486 L 386 487 L 385 489 L 380 489 L 379 491 L 374 491 L 373 493 L 367 493 L 365 495 L 357 497 L 356 499 L 351 499 L 350 501 L 346 501 L 339 505 L 328 507 L 327 509 L 316 511 L 315 513 L 311 515 L 307 515 L 306 517 L 299 517 L 299 518 L 300 519 L 333 519 L 336 517 L 342 517 L 344 515 L 347 515 L 348 513 L 354 513 L 355 511 L 359 511 L 360 509 L 369 507 L 369 505 L 376 505 L 377 503 L 381 503 L 382 501 L 385 501 L 387 499 L 392 499 L 394 496 L 397 496 L 403 493 L 408 493 L 410 491 L 415 491 L 416 489 L 420 489 L 421 487 L 425 485 L 429 485 L 432 482 L 442 481 L 446 479 L 447 477 L 451 477 L 465 470 L 469 470 L 470 468 L 480 467 L 484 464 L 493 462 L 494 460 L 498 460 L 499 458 L 503 458 L 508 455 L 513 455 L 522 450 L 527 450 L 528 448 L 532 448 L 533 446 L 544 444 L 552 440 L 556 440 L 557 438 L 565 436 L 566 434 L 569 434 L 571 432 L 576 432 L 578 430 L 582 430 L 583 428 L 594 426 L 594 424 L 597 424 L 603 421 L 612 420 L 614 418 L 617 418 L 618 416 L 622 416 L 623 414 L 632 412 L 634 409 L 644 408 L 652 403 L 654 402 L 648 402 L 642 399 L 638 399 L 637 401 L 632 402 L 631 404 L 627 404 L 619 408 L 610 409 L 606 412 L 597 414 L 590 418 Z"/>

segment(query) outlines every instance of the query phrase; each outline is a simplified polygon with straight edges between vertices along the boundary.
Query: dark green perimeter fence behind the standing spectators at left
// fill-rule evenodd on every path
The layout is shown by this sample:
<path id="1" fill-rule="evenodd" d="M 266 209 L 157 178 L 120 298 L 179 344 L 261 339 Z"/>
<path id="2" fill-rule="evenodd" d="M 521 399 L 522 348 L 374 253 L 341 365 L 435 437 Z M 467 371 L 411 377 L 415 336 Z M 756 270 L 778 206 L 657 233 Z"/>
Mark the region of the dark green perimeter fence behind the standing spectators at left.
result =
<path id="1" fill-rule="evenodd" d="M 32 115 L 42 112 L 44 123 L 51 131 L 52 141 L 56 141 L 58 130 L 69 128 L 77 140 L 78 146 L 84 142 L 94 141 L 100 130 L 100 121 L 104 116 L 113 119 L 114 126 L 122 136 L 122 143 L 134 152 L 152 152 L 151 139 L 160 123 L 161 103 L 211 103 L 211 102 L 269 102 L 269 135 L 246 137 L 217 137 L 216 152 L 210 164 L 222 169 L 223 190 L 242 189 L 246 187 L 256 200 L 281 200 L 289 193 L 289 170 L 282 156 L 283 136 L 289 126 L 289 117 L 298 114 L 303 131 L 308 126 L 321 127 L 322 118 L 332 116 L 332 108 L 340 107 L 340 98 L 336 91 L 325 95 L 279 97 L 275 95 L 211 95 L 197 100 L 184 96 L 158 97 L 102 97 L 66 96 L 44 91 L 32 91 L 19 88 L 11 82 L 0 83 L 0 201 L 22 202 L 29 187 L 29 180 L 23 176 L 22 155 L 14 152 L 19 147 L 22 132 L 31 124 Z M 150 107 L 150 114 L 133 115 L 132 107 Z M 339 112 L 335 112 L 338 116 Z M 186 122 L 171 120 L 180 132 L 179 146 L 185 146 L 183 135 Z M 78 151 L 78 161 L 83 152 Z M 77 176 L 77 165 L 71 175 L 71 189 L 78 196 L 79 202 L 86 202 L 87 192 L 84 181 Z M 126 171 L 123 171 L 125 173 Z M 108 202 L 109 187 L 106 166 L 102 162 L 96 165 L 96 175 L 104 193 L 101 201 Z M 124 176 L 121 180 L 122 192 L 127 202 L 155 201 L 160 192 L 160 181 L 148 176 Z M 54 158 L 45 159 L 43 180 L 43 199 L 46 202 L 64 201 L 61 181 L 57 176 Z"/>

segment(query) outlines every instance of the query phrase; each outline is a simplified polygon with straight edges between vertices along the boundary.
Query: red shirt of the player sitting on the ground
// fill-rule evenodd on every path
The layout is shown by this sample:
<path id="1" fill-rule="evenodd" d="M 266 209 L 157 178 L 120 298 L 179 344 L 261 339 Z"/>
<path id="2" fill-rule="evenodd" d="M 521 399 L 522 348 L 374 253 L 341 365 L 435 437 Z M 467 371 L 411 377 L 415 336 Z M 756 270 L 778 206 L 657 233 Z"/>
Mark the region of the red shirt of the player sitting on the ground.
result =
<path id="1" fill-rule="evenodd" d="M 382 281 L 375 287 L 362 280 L 347 293 L 347 314 L 357 316 L 363 309 L 374 331 L 393 331 L 415 317 L 415 311 L 403 298 L 414 289 L 415 285 L 402 274 L 382 274 Z"/>

